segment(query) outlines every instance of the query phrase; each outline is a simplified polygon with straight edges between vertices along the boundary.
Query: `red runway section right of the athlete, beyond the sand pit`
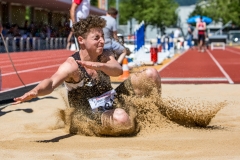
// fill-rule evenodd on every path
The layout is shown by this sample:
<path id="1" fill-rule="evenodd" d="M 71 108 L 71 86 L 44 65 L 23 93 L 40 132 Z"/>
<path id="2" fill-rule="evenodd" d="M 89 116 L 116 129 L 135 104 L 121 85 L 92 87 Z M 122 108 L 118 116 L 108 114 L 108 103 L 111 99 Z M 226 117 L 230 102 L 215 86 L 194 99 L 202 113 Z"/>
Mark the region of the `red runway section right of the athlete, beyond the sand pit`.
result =
<path id="1" fill-rule="evenodd" d="M 240 50 L 187 50 L 159 73 L 162 83 L 240 83 Z"/>

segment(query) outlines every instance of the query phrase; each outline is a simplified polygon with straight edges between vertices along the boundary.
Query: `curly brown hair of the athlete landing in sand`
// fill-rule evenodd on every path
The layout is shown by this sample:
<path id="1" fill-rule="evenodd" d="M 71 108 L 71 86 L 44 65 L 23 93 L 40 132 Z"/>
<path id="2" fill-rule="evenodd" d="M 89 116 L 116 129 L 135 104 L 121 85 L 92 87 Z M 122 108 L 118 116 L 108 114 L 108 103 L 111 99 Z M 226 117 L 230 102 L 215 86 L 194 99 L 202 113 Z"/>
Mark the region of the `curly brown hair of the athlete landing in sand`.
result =
<path id="1" fill-rule="evenodd" d="M 92 28 L 104 28 L 106 26 L 106 20 L 97 16 L 89 15 L 86 19 L 80 19 L 79 22 L 73 25 L 73 33 L 76 37 L 86 38 L 90 29 Z"/>

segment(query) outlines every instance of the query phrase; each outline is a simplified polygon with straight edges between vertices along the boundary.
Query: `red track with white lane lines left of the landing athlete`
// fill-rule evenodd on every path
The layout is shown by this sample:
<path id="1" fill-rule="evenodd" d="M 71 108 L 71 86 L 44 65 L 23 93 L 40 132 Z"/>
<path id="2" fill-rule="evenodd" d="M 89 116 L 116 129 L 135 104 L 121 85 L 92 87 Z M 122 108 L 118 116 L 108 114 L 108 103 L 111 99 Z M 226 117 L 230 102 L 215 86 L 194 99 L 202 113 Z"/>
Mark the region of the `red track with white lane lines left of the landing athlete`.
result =
<path id="1" fill-rule="evenodd" d="M 38 83 L 50 77 L 71 54 L 73 52 L 67 50 L 10 53 L 21 80 L 18 78 L 8 54 L 0 54 L 2 91 Z"/>

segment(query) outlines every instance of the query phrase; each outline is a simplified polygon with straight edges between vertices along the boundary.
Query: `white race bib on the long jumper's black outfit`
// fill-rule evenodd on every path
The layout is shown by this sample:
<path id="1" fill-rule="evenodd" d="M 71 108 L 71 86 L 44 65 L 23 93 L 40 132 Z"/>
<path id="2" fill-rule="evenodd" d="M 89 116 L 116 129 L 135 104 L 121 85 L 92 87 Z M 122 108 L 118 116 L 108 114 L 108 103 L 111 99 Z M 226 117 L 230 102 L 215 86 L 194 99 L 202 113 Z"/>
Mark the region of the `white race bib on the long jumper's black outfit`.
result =
<path id="1" fill-rule="evenodd" d="M 114 89 L 103 93 L 102 95 L 98 97 L 93 97 L 88 100 L 93 112 L 96 111 L 105 111 L 105 110 L 110 110 L 113 109 L 113 99 L 114 96 L 116 95 L 116 91 Z"/>

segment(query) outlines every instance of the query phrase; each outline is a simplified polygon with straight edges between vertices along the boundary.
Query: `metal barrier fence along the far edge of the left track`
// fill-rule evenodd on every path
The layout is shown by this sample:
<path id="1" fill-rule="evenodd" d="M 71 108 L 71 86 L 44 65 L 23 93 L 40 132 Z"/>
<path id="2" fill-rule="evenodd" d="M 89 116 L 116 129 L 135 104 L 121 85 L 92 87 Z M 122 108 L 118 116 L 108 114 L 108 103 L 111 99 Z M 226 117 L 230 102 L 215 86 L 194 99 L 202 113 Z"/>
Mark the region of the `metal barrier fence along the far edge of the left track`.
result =
<path id="1" fill-rule="evenodd" d="M 46 38 L 39 37 L 23 38 L 23 37 L 6 37 L 6 47 L 9 52 L 23 52 L 33 50 L 52 50 L 64 49 L 67 45 L 67 38 Z M 3 40 L 0 38 L 0 53 L 6 52 Z"/>

